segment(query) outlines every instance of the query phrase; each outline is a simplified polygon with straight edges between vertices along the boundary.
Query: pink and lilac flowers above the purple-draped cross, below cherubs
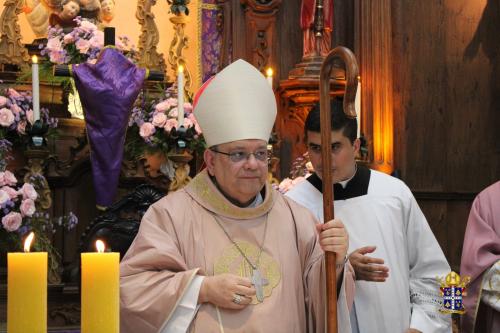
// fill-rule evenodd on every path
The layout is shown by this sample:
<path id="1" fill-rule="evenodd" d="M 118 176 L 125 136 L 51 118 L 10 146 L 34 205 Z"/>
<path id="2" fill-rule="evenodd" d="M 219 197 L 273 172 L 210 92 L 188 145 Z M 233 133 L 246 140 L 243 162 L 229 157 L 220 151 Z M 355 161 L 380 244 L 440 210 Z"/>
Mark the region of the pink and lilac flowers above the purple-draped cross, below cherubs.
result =
<path id="1" fill-rule="evenodd" d="M 104 33 L 95 24 L 80 17 L 74 20 L 77 26 L 69 33 L 65 33 L 62 28 L 49 27 L 47 44 L 40 47 L 41 54 L 48 58 L 50 66 L 95 62 L 104 47 Z M 115 46 L 135 60 L 137 52 L 127 36 L 118 36 Z"/>

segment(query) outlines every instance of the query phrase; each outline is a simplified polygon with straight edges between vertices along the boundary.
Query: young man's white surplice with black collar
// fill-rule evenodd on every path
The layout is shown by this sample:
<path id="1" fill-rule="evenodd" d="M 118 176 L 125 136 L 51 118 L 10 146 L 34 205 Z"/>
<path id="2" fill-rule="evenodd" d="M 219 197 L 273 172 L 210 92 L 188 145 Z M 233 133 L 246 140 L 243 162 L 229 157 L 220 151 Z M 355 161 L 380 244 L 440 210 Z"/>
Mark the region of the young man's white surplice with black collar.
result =
<path id="1" fill-rule="evenodd" d="M 322 219 L 321 179 L 313 174 L 287 196 Z M 385 282 L 356 281 L 353 332 L 451 332 L 450 315 L 439 312 L 436 277 L 450 272 L 443 251 L 408 187 L 399 179 L 358 167 L 345 187 L 335 184 L 335 216 L 349 232 L 349 252 L 376 246 Z M 354 318 L 353 318 L 354 317 Z"/>

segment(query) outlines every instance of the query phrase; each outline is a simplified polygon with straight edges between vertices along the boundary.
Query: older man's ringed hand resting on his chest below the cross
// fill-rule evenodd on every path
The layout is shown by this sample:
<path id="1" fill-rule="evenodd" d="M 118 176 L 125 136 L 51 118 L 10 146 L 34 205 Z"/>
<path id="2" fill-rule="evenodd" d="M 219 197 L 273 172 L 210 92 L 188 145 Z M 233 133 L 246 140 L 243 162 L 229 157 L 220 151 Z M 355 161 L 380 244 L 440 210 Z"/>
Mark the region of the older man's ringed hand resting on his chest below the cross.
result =
<path id="1" fill-rule="evenodd" d="M 212 303 L 224 309 L 241 310 L 255 296 L 255 288 L 247 278 L 234 274 L 206 276 L 201 284 L 198 303 Z"/>

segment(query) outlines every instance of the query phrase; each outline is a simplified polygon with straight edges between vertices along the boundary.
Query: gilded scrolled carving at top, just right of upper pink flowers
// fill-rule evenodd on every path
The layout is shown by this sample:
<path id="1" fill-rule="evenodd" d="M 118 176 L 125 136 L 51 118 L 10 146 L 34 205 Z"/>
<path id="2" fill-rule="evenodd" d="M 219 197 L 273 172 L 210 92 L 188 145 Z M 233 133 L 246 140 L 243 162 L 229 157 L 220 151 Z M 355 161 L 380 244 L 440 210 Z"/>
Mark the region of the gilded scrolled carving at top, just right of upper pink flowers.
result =
<path id="1" fill-rule="evenodd" d="M 158 53 L 157 46 L 160 41 L 160 34 L 155 23 L 155 16 L 151 8 L 156 4 L 156 0 L 138 0 L 136 18 L 141 26 L 139 36 L 139 65 L 149 69 L 165 72 L 167 66 L 163 59 L 163 54 Z"/>

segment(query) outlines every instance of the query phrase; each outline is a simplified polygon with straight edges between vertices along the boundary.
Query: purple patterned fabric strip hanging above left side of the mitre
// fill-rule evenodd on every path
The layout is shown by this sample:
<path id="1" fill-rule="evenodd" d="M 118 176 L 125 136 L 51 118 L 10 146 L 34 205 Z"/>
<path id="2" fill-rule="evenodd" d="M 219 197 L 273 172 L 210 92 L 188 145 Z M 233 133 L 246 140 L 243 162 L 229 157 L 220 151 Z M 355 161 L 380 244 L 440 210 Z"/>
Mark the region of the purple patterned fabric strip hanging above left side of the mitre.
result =
<path id="1" fill-rule="evenodd" d="M 216 0 L 205 0 L 203 4 L 214 5 Z M 220 69 L 220 53 L 222 47 L 222 33 L 217 27 L 220 9 L 209 6 L 201 7 L 201 68 L 202 81 L 217 74 Z"/>

